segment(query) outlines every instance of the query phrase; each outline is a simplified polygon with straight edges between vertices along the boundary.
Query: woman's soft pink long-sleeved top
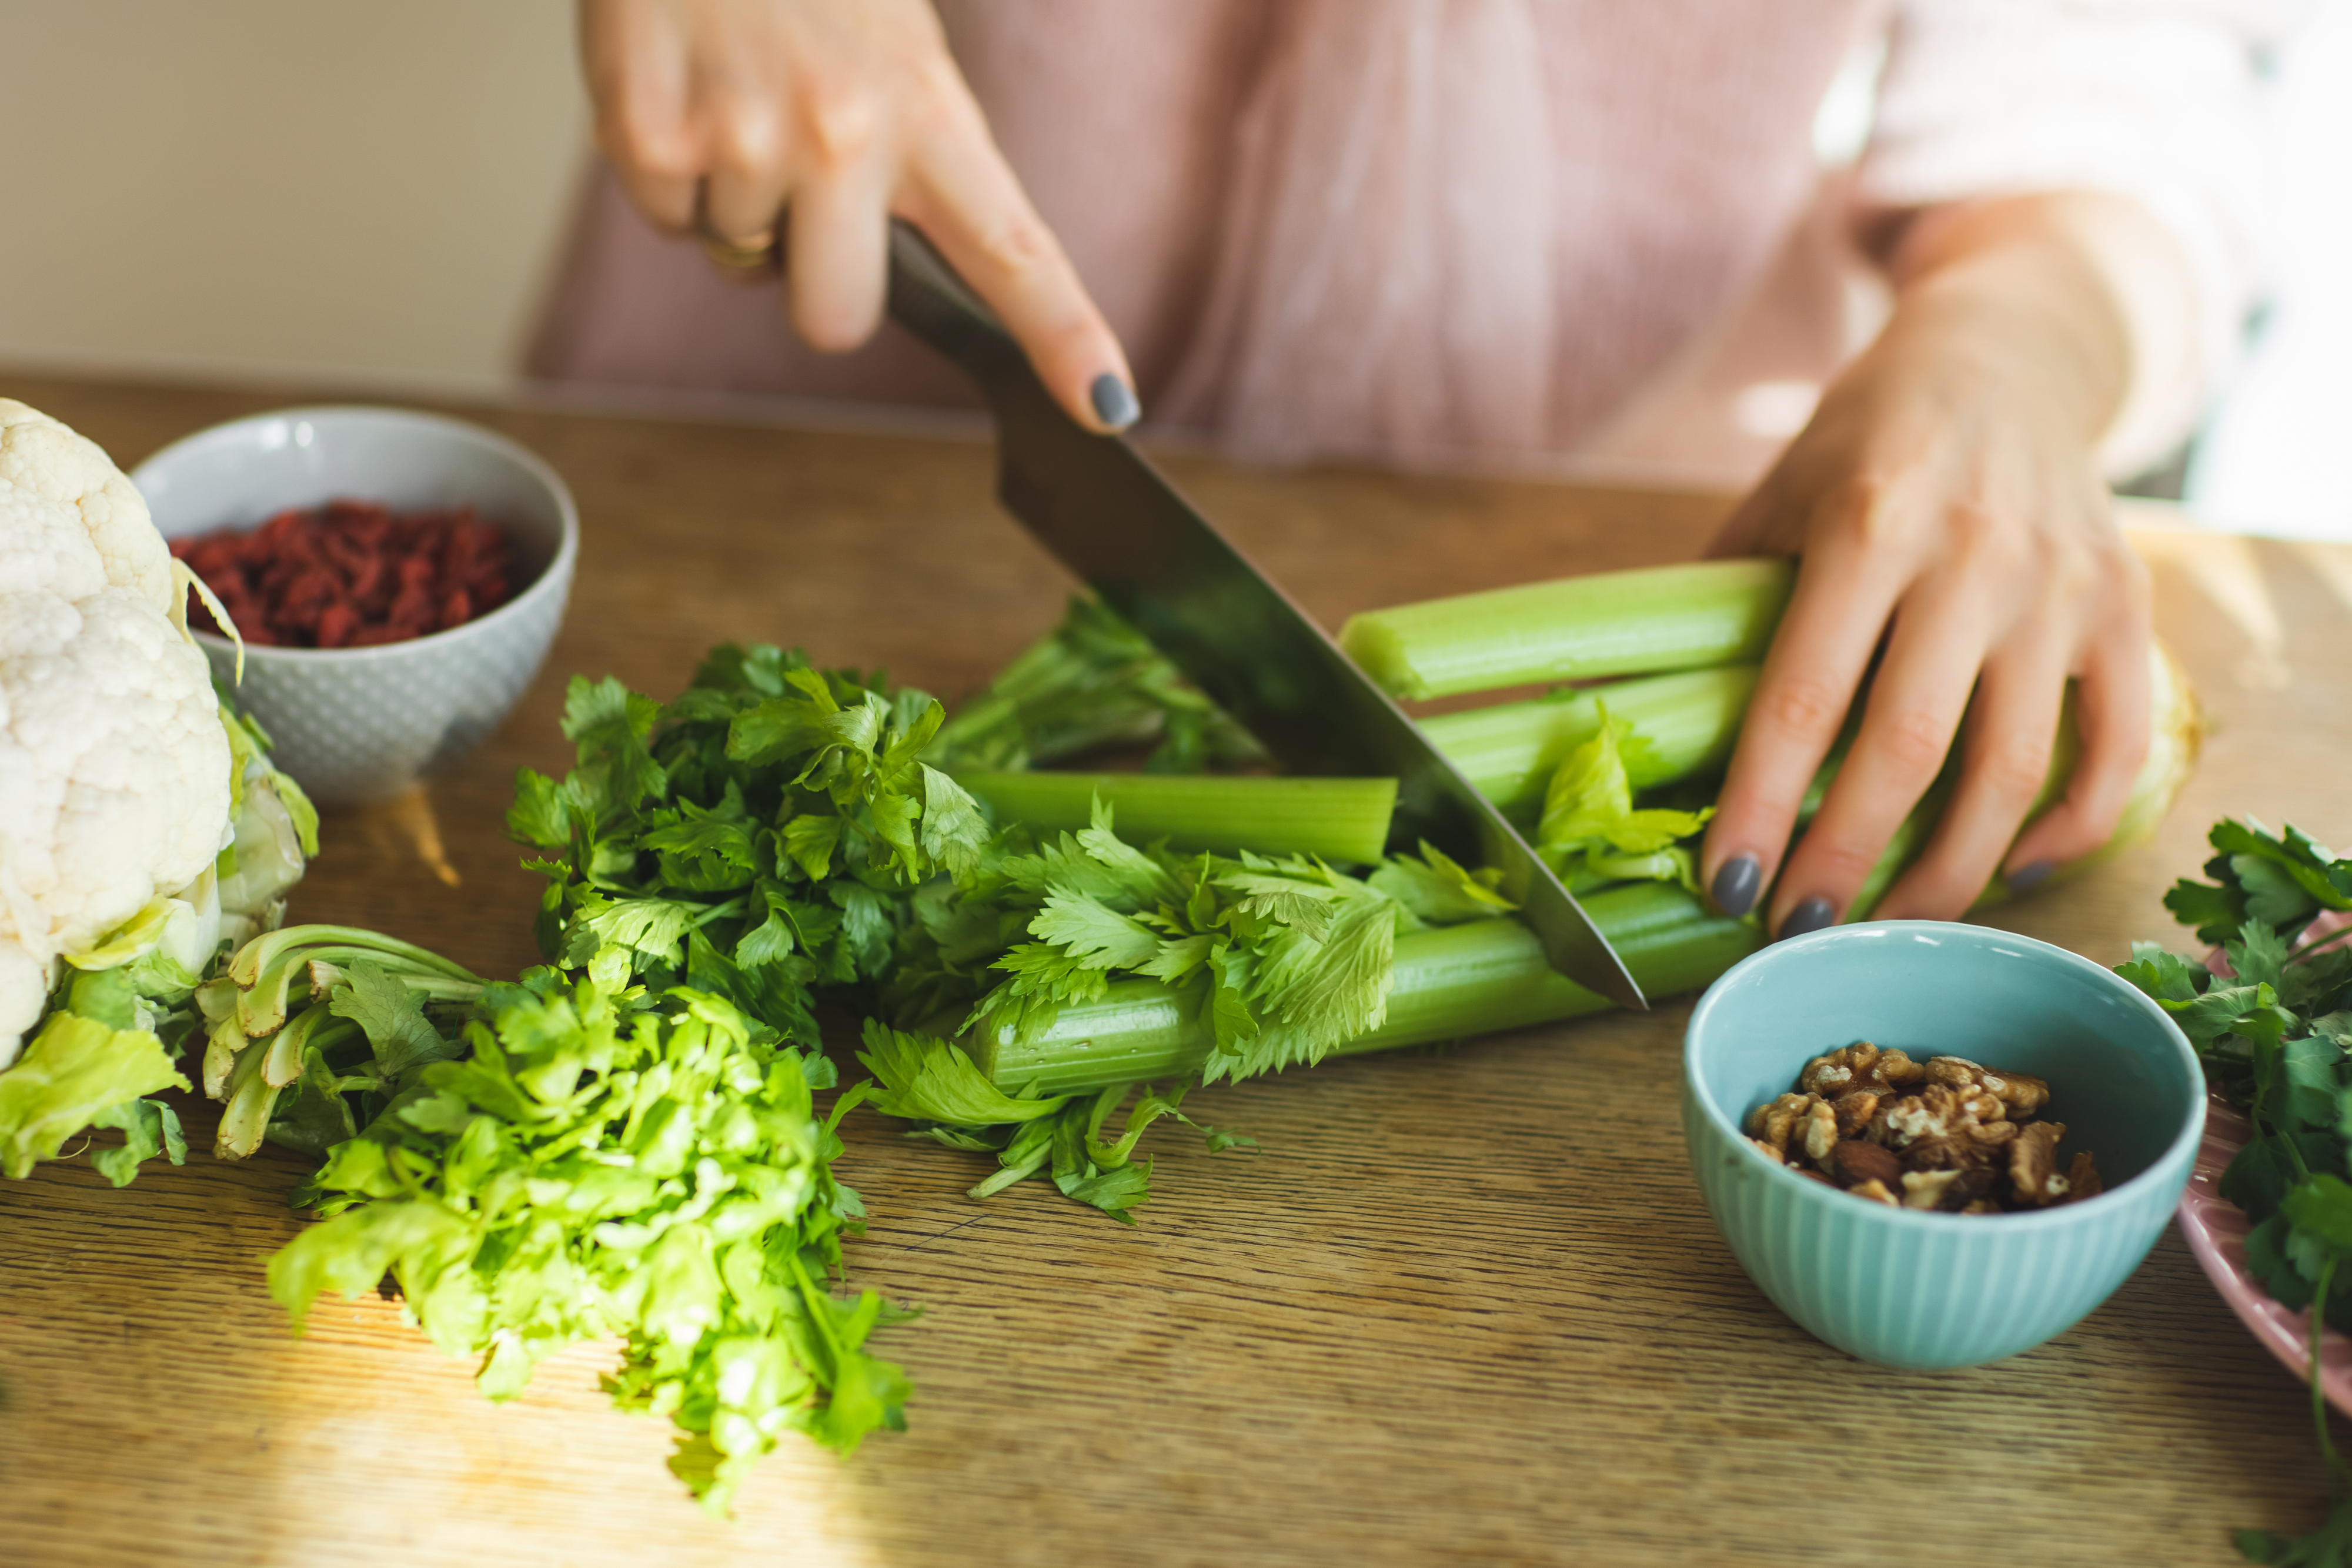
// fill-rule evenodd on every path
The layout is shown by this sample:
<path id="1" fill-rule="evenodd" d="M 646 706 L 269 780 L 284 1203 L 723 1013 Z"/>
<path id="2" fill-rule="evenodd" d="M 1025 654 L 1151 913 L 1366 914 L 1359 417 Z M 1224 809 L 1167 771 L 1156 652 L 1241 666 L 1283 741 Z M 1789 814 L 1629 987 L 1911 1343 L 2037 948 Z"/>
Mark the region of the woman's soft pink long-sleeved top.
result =
<path id="1" fill-rule="evenodd" d="M 2138 197 L 2199 280 L 2185 374 L 2211 381 L 2256 287 L 2256 47 L 2293 2 L 938 9 L 1150 423 L 1275 461 L 1538 465 L 1646 442 L 1752 470 L 1785 430 L 1750 418 L 1743 447 L 1738 395 L 1818 386 L 1870 329 L 1844 235 L 1875 209 Z M 1816 108 L 1872 40 L 1875 132 L 1858 167 L 1825 172 Z M 529 371 L 969 402 L 891 331 L 856 355 L 804 350 L 774 284 L 722 280 L 602 176 Z M 2178 437 L 2194 386 L 2157 404 L 2166 428 L 2143 444 Z"/>

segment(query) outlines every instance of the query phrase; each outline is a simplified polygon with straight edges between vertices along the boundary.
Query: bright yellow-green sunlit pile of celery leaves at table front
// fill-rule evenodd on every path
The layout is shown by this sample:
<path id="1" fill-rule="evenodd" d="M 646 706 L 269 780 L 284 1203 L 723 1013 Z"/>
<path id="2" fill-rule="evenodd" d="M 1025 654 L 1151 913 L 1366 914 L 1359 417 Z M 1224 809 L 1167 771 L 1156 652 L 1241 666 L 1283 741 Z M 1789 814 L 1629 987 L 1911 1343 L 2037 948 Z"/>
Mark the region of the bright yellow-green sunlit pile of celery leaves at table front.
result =
<path id="1" fill-rule="evenodd" d="M 339 992 L 360 985 L 381 990 Z M 604 1389 L 668 1415 L 670 1469 L 713 1512 L 786 1432 L 847 1453 L 903 1427 L 906 1373 L 866 1349 L 903 1314 L 823 1288 L 861 1213 L 814 1114 L 823 1072 L 720 997 L 623 999 L 548 969 L 485 990 L 473 1027 L 473 1058 L 423 1065 L 327 1150 L 308 1197 L 329 1218 L 268 1267 L 296 1328 L 318 1295 L 390 1274 L 492 1399 L 548 1354 L 619 1338 Z"/>

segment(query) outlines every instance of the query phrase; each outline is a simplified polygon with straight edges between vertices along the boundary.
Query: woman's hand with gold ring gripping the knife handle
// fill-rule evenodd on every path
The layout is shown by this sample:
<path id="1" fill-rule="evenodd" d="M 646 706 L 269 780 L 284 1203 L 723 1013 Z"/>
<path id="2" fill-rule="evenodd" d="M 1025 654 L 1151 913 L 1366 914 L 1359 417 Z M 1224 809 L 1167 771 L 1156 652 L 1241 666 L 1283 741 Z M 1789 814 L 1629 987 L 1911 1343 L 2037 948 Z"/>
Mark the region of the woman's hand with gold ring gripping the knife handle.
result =
<path id="1" fill-rule="evenodd" d="M 1080 423 L 1134 423 L 1127 355 L 927 0 L 581 0 L 581 54 L 597 146 L 656 226 L 764 249 L 790 207 L 786 308 L 811 348 L 856 348 L 882 322 L 896 214 Z"/>

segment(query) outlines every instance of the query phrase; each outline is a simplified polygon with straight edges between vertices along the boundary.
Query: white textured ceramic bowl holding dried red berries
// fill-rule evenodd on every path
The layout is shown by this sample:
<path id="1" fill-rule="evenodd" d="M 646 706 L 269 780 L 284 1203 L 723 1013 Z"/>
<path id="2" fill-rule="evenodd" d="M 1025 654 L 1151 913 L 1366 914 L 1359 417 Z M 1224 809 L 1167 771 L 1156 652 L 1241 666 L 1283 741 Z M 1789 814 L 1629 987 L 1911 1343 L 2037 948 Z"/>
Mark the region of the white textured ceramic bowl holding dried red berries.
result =
<path id="1" fill-rule="evenodd" d="M 508 531 L 524 585 L 487 616 L 367 649 L 245 649 L 238 701 L 270 731 L 278 766 L 325 802 L 397 795 L 473 750 L 539 675 L 572 597 L 572 491 L 503 435 L 440 414 L 256 414 L 165 447 L 132 484 L 165 538 L 252 529 L 334 498 L 395 512 L 473 505 Z M 235 649 L 198 642 L 228 679 Z"/>

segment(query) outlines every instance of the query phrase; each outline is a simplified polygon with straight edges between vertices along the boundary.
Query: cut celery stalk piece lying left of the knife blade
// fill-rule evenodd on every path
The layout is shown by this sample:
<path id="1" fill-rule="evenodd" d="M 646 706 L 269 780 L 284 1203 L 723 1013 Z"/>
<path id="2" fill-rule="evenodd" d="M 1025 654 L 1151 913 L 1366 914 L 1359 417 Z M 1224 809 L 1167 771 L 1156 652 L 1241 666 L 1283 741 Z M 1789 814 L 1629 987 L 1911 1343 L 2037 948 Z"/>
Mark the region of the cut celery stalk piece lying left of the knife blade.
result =
<path id="1" fill-rule="evenodd" d="M 1089 823 L 1110 804 L 1129 844 L 1167 839 L 1178 851 L 1322 856 L 1369 865 L 1388 849 L 1395 778 L 1216 778 L 1197 773 L 988 773 L 955 776 L 1000 823 L 1037 832 Z"/>

